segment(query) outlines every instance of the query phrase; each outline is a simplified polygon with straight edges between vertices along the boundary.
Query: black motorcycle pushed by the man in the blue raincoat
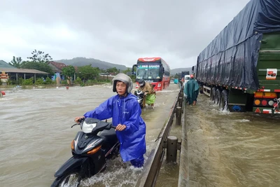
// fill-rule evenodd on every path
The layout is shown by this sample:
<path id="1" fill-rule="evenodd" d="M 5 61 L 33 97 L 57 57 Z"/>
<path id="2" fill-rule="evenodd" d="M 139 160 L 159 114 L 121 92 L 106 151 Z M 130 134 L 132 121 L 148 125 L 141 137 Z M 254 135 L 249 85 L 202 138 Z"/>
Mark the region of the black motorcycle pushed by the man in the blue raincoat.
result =
<path id="1" fill-rule="evenodd" d="M 55 172 L 51 187 L 80 186 L 80 181 L 106 169 L 106 160 L 118 157 L 120 143 L 111 123 L 95 118 L 81 119 L 71 142 L 72 157 Z"/>

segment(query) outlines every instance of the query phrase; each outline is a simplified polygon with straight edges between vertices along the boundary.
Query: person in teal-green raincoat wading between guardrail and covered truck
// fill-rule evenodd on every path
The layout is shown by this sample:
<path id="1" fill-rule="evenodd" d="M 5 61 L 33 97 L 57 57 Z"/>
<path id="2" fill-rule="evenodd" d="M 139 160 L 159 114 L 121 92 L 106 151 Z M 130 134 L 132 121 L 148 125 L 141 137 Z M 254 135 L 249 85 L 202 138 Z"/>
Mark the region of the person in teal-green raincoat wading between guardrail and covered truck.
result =
<path id="1" fill-rule="evenodd" d="M 188 104 L 195 105 L 197 102 L 197 95 L 200 91 L 200 85 L 198 85 L 195 78 L 193 78 L 193 74 L 190 75 L 190 80 L 184 86 L 184 94 L 186 95 L 186 102 Z"/>

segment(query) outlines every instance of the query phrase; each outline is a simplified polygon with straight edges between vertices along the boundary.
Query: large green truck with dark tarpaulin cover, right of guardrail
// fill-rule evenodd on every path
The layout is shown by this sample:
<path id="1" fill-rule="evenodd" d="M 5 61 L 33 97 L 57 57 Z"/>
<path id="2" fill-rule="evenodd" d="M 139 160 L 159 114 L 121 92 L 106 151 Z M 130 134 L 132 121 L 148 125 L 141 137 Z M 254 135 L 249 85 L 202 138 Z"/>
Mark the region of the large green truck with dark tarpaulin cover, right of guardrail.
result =
<path id="1" fill-rule="evenodd" d="M 249 1 L 193 71 L 222 109 L 280 114 L 280 0 Z"/>

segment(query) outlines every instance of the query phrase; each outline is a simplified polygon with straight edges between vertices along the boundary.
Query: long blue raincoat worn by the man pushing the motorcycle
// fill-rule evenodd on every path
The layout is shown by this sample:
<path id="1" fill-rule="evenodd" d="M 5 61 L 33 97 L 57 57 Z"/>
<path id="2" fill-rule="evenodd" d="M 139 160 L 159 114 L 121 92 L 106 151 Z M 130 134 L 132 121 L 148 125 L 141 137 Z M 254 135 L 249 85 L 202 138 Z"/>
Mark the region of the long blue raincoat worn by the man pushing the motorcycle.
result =
<path id="1" fill-rule="evenodd" d="M 120 155 L 124 162 L 134 160 L 146 153 L 146 123 L 141 118 L 141 108 L 137 97 L 129 93 L 127 97 L 116 95 L 85 113 L 85 118 L 105 120 L 112 118 L 114 126 L 126 125 L 123 131 L 116 131 L 120 141 Z"/>

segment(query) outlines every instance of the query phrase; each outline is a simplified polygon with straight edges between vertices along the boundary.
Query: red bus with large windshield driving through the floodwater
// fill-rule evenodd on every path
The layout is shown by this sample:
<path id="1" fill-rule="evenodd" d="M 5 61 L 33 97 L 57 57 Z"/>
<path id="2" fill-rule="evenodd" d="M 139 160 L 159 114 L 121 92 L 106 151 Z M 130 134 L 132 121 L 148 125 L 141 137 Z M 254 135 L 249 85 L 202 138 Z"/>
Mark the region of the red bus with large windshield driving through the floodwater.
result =
<path id="1" fill-rule="evenodd" d="M 134 72 L 134 67 L 137 69 L 136 72 Z M 139 58 L 137 64 L 132 67 L 132 74 L 136 75 L 136 88 L 139 88 L 140 79 L 151 83 L 155 91 L 167 88 L 170 83 L 169 65 L 161 57 Z"/>

